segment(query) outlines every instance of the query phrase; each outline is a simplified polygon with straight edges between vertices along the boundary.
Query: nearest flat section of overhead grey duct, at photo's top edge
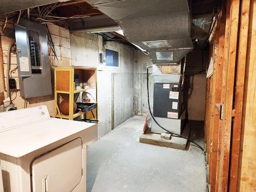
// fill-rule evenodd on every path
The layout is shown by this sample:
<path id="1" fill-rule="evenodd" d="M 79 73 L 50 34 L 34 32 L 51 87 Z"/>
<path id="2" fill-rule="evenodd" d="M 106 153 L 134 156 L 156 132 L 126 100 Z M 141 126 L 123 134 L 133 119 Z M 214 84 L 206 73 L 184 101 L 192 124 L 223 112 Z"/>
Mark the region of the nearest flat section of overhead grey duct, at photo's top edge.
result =
<path id="1" fill-rule="evenodd" d="M 114 20 L 188 12 L 187 0 L 86 0 Z"/>

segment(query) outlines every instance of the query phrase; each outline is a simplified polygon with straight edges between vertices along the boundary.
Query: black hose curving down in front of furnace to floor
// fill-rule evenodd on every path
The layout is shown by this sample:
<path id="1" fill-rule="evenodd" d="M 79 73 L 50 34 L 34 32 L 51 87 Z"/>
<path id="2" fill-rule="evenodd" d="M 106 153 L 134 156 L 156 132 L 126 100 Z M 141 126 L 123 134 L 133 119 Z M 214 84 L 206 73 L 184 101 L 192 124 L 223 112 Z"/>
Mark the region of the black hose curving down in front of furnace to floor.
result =
<path id="1" fill-rule="evenodd" d="M 191 143 L 194 143 L 195 145 L 197 145 L 197 146 L 205 153 L 204 148 L 203 148 L 201 145 L 199 145 L 197 142 L 195 142 L 195 141 L 193 141 L 193 140 L 191 140 L 191 139 L 189 139 L 189 138 L 187 138 L 187 137 L 184 137 L 184 136 L 182 136 L 182 135 L 180 135 L 180 134 L 177 134 L 177 133 L 173 133 L 173 132 L 168 131 L 168 130 L 165 129 L 163 126 L 161 126 L 161 125 L 157 122 L 157 120 L 155 119 L 155 117 L 153 116 L 152 111 L 151 111 L 151 107 L 150 107 L 150 92 L 148 91 L 148 68 L 150 68 L 150 67 L 152 67 L 152 66 L 148 66 L 148 67 L 146 68 L 146 80 L 147 80 L 147 81 L 146 81 L 146 87 L 147 87 L 147 103 L 148 103 L 148 109 L 150 110 L 151 117 L 152 117 L 153 120 L 157 123 L 157 125 L 160 126 L 164 131 L 166 131 L 166 132 L 168 132 L 168 133 L 170 133 L 170 134 L 172 134 L 172 135 L 176 135 L 176 136 L 178 136 L 178 137 L 184 138 L 184 139 L 190 141 Z"/>

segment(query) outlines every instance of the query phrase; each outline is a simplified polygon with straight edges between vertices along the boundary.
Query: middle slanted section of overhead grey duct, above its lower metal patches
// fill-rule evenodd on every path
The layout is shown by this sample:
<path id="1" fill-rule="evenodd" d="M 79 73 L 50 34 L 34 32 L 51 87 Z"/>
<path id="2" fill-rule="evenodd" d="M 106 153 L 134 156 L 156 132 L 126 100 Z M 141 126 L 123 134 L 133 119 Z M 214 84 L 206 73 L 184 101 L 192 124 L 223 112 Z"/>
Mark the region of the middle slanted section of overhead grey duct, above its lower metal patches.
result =
<path id="1" fill-rule="evenodd" d="M 131 42 L 189 38 L 188 23 L 189 12 L 118 20 L 124 36 Z"/>

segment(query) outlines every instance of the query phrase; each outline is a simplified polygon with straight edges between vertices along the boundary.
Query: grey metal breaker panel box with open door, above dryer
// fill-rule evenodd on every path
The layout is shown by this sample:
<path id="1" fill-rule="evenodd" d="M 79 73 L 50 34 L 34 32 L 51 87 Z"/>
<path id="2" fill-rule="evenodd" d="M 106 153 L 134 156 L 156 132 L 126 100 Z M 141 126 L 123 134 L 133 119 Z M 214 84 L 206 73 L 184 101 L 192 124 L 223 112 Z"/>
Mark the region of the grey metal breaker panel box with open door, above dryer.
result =
<path id="1" fill-rule="evenodd" d="M 21 19 L 14 24 L 20 95 L 25 98 L 52 94 L 47 29 Z"/>

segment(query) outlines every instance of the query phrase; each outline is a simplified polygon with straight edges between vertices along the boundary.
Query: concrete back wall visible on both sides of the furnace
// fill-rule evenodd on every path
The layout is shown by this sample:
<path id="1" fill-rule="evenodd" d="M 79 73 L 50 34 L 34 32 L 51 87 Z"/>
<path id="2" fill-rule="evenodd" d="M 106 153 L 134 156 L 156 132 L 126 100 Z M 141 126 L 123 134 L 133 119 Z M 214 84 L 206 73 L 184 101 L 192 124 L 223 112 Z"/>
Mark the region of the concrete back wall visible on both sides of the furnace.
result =
<path id="1" fill-rule="evenodd" d="M 184 85 L 184 99 L 187 100 L 188 119 L 203 121 L 205 108 L 205 72 L 202 68 L 201 50 L 195 49 L 187 55 Z M 134 92 L 134 114 L 146 115 L 148 111 L 147 89 L 146 89 L 146 66 L 151 66 L 152 61 L 148 55 L 140 50 L 136 51 L 135 60 L 135 92 Z M 204 63 L 205 65 L 205 63 Z M 151 72 L 151 71 L 150 71 Z M 191 72 L 191 73 L 190 73 Z M 193 72 L 193 73 L 192 73 Z M 200 73 L 201 72 L 201 73 Z M 150 76 L 150 102 L 153 108 L 153 79 Z"/>

